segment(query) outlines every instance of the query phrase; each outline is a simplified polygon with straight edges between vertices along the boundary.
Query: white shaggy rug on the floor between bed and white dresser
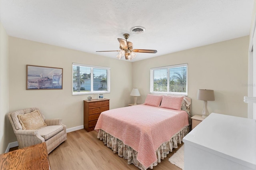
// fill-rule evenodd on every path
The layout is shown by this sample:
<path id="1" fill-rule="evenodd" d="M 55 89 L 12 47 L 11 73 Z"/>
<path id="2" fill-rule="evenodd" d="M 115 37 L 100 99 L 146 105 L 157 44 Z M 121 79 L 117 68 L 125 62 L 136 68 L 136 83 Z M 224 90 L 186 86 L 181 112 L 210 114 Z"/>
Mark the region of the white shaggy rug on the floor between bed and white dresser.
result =
<path id="1" fill-rule="evenodd" d="M 184 170 L 184 144 L 169 158 L 169 161 Z"/>

